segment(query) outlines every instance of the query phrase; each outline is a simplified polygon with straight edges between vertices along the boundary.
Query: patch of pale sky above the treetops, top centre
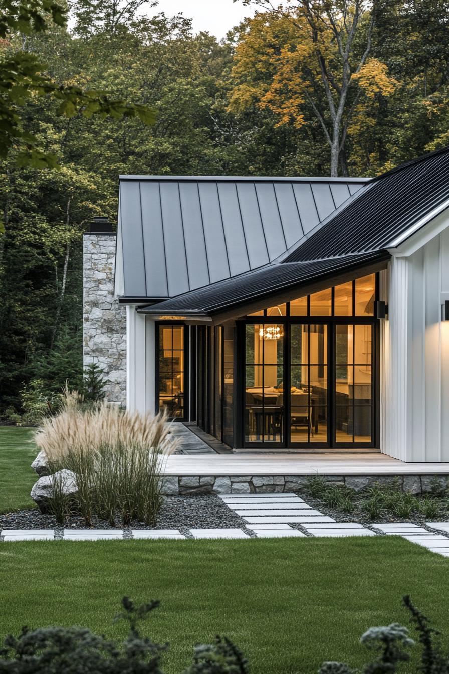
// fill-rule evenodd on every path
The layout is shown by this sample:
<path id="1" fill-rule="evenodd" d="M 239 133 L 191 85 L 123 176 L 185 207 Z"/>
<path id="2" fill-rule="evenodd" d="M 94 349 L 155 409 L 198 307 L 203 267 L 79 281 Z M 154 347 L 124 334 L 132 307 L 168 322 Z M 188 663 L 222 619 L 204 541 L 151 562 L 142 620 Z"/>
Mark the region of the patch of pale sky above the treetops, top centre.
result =
<path id="1" fill-rule="evenodd" d="M 164 11 L 168 16 L 182 12 L 193 19 L 194 32 L 207 30 L 220 39 L 245 16 L 252 16 L 254 7 L 243 5 L 242 0 L 159 0 L 156 7 L 146 11 L 150 14 Z"/>

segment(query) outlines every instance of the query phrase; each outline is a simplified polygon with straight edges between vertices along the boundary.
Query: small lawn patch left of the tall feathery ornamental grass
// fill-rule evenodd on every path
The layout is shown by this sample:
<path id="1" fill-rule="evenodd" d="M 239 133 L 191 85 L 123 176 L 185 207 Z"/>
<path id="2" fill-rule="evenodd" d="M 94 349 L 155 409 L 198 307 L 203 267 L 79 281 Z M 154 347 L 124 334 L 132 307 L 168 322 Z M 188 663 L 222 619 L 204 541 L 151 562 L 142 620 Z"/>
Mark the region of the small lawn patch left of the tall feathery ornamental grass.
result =
<path id="1" fill-rule="evenodd" d="M 38 450 L 34 429 L 0 427 L 0 513 L 34 508 L 30 491 L 37 475 L 30 464 Z"/>

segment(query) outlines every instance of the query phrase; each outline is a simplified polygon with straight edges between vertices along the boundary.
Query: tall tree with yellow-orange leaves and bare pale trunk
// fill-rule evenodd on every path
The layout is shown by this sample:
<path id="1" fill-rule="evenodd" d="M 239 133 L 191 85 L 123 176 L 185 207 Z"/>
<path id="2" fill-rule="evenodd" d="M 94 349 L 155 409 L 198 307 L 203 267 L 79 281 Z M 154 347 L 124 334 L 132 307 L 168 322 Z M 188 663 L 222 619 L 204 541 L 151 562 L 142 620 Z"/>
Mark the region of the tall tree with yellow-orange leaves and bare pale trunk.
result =
<path id="1" fill-rule="evenodd" d="M 255 0 L 260 9 L 240 26 L 230 111 L 257 105 L 272 111 L 278 126 L 318 121 L 331 175 L 348 175 L 345 142 L 355 113 L 396 87 L 386 65 L 370 55 L 379 1 L 292 0 L 276 7 Z"/>

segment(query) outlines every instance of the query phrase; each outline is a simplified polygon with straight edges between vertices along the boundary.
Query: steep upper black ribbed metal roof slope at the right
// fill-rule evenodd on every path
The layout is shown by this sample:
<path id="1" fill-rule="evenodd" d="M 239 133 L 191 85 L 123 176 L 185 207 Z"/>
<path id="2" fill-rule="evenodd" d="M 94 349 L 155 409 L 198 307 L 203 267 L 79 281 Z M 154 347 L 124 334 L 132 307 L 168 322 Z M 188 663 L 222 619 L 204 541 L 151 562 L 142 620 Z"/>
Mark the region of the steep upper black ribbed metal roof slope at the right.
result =
<path id="1" fill-rule="evenodd" d="M 366 183 L 320 229 L 285 257 L 300 262 L 396 247 L 449 200 L 449 148 Z M 425 224 L 425 222 L 422 222 Z"/>

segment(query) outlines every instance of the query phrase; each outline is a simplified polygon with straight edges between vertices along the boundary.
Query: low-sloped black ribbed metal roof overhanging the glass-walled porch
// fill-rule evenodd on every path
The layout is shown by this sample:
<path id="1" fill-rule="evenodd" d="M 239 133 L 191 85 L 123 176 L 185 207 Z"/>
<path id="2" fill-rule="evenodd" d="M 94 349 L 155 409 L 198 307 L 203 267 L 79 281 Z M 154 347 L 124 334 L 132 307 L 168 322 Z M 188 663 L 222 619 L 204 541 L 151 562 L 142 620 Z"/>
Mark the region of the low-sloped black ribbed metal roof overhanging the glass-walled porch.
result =
<path id="1" fill-rule="evenodd" d="M 316 262 L 273 263 L 265 268 L 228 278 L 205 288 L 191 290 L 179 297 L 172 297 L 158 305 L 139 309 L 154 315 L 215 315 L 230 307 L 238 307 L 254 301 L 266 301 L 272 295 L 307 284 L 329 280 L 344 272 L 355 273 L 368 266 L 382 263 L 390 258 L 387 251 L 351 255 L 344 258 L 318 260 Z M 299 297 L 299 295 L 298 295 Z"/>

